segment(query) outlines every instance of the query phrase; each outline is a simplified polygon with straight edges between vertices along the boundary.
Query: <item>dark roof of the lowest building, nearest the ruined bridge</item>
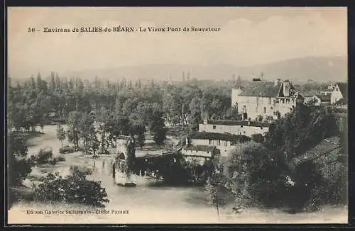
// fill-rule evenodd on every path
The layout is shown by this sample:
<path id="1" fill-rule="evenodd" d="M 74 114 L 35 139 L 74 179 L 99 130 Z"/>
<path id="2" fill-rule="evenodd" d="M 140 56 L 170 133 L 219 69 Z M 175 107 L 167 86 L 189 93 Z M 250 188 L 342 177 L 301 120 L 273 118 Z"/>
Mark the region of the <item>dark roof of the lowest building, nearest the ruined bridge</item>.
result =
<path id="1" fill-rule="evenodd" d="M 231 142 L 246 142 L 251 140 L 250 137 L 246 135 L 232 135 L 227 133 L 194 132 L 187 137 L 195 140 L 226 140 Z"/>

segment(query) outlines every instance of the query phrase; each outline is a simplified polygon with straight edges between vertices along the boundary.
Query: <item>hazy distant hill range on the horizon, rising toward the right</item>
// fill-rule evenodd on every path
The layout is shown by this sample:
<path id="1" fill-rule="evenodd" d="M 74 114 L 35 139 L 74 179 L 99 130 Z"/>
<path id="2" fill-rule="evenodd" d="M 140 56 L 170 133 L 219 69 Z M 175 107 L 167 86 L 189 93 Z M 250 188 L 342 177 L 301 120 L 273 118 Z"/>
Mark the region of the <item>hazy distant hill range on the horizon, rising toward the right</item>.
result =
<path id="1" fill-rule="evenodd" d="M 313 81 L 345 81 L 347 79 L 346 57 L 302 57 L 292 60 L 283 60 L 269 64 L 257 64 L 251 67 L 238 67 L 231 64 L 214 64 L 210 66 L 195 64 L 148 64 L 137 67 L 117 67 L 113 69 L 88 69 L 79 72 L 60 73 L 60 76 L 82 77 L 116 81 L 126 79 L 165 79 L 182 80 L 182 72 L 187 79 L 232 79 L 233 75 L 242 79 L 251 79 L 251 74 L 261 74 L 268 80 L 290 79 L 304 82 L 308 79 Z M 47 74 L 45 74 L 47 75 Z"/>

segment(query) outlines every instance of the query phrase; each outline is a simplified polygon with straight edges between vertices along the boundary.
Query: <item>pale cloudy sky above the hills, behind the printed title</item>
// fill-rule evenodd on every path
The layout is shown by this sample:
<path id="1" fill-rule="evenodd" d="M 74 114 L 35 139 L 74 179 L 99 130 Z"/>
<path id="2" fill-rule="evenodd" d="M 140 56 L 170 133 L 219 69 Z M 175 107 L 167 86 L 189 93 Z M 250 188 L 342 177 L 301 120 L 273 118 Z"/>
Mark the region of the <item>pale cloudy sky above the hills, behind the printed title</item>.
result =
<path id="1" fill-rule="evenodd" d="M 250 66 L 347 55 L 346 8 L 8 8 L 8 73 L 28 77 L 143 64 Z M 214 33 L 43 33 L 43 28 L 155 26 Z M 35 33 L 28 33 L 35 28 Z"/>

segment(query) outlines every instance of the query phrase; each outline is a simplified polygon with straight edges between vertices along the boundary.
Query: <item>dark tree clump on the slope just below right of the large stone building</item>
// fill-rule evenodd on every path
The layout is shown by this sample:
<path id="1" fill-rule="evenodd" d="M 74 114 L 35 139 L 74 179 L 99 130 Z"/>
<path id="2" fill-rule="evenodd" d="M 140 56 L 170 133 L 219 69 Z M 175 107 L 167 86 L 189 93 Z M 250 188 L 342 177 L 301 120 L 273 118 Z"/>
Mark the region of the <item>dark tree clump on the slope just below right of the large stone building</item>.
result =
<path id="1" fill-rule="evenodd" d="M 280 150 L 290 159 L 314 147 L 324 138 L 338 134 L 334 116 L 325 108 L 299 105 L 293 113 L 270 125 L 266 133 L 266 147 Z"/>

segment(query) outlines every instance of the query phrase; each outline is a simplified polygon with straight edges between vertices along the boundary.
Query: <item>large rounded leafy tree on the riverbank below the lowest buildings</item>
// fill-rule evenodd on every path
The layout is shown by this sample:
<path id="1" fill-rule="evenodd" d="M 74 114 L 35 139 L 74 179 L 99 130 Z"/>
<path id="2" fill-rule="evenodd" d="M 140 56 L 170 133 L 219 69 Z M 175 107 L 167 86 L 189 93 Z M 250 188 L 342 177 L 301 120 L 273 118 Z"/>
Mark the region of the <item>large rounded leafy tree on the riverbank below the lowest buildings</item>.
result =
<path id="1" fill-rule="evenodd" d="M 288 167 L 281 154 L 249 142 L 230 153 L 226 168 L 239 193 L 244 191 L 244 195 L 263 205 L 283 203 L 286 190 L 283 176 Z"/>

